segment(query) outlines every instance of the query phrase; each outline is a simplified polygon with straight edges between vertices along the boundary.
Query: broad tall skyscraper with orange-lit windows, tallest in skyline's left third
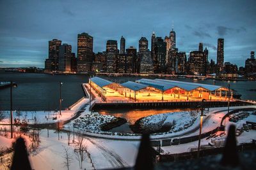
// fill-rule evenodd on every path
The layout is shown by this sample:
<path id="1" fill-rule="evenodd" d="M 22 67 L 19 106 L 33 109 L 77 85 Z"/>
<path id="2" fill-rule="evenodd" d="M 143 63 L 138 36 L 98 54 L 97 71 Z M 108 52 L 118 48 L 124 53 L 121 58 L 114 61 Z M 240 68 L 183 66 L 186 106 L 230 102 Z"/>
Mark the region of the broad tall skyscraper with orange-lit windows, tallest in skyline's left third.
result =
<path id="1" fill-rule="evenodd" d="M 83 32 L 77 34 L 77 71 L 90 71 L 93 61 L 93 37 Z"/>

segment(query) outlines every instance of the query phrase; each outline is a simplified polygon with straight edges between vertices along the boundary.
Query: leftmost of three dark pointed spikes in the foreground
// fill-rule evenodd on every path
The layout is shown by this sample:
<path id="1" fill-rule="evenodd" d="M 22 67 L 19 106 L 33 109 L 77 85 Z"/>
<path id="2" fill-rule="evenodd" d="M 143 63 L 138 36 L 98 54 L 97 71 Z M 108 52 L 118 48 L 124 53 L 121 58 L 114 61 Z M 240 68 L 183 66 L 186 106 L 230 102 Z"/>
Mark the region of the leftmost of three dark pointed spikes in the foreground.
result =
<path id="1" fill-rule="evenodd" d="M 28 152 L 23 138 L 16 140 L 11 170 L 31 170 Z"/>

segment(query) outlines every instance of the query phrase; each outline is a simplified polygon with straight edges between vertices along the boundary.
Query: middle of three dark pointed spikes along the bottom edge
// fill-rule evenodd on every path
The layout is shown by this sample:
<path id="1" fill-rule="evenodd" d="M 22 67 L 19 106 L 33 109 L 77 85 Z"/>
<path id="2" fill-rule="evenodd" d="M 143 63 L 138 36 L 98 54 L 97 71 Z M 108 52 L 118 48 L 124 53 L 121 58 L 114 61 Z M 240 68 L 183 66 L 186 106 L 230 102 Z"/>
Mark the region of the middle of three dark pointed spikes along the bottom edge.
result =
<path id="1" fill-rule="evenodd" d="M 143 134 L 140 142 L 140 148 L 138 151 L 135 169 L 154 169 L 153 164 L 153 148 L 150 145 L 149 134 Z"/>

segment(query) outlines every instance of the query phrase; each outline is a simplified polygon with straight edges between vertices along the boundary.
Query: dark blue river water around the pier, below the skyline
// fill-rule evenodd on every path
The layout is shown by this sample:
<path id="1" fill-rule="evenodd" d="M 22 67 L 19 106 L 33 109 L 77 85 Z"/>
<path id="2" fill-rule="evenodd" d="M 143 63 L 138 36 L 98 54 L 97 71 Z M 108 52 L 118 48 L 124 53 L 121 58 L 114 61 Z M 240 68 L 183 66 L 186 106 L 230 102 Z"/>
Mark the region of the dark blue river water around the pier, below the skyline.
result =
<path id="1" fill-rule="evenodd" d="M 106 77 L 111 81 L 124 83 L 135 81 L 143 77 Z M 148 78 L 148 77 L 147 77 Z M 154 77 L 150 77 L 154 78 Z M 164 78 L 164 77 L 163 77 Z M 165 78 L 169 79 L 169 78 Z M 81 83 L 88 82 L 85 74 L 54 75 L 33 74 L 33 73 L 0 73 L 0 81 L 15 81 L 17 88 L 13 88 L 13 109 L 14 110 L 56 110 L 60 96 L 59 81 L 63 82 L 61 96 L 62 106 L 67 108 L 84 96 Z M 231 89 L 242 94 L 242 99 L 256 100 L 256 92 L 248 91 L 255 89 L 256 81 L 219 81 L 219 80 L 193 80 L 173 79 L 178 81 L 190 81 L 195 83 L 208 83 L 227 87 L 230 83 Z M 246 88 L 244 88 L 246 87 Z M 10 88 L 0 90 L 0 110 L 10 109 Z M 147 110 L 147 109 L 146 109 Z M 105 110 L 111 113 L 111 111 Z M 123 111 L 126 113 L 126 111 Z"/>

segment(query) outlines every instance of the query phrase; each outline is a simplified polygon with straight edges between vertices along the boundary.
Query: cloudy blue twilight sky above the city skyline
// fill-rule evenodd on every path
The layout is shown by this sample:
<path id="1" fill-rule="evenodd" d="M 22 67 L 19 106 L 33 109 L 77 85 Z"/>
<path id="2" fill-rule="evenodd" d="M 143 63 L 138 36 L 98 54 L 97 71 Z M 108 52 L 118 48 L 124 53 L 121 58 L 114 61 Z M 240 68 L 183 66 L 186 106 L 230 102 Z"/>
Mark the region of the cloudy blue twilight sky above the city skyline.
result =
<path id="1" fill-rule="evenodd" d="M 0 67 L 44 67 L 48 41 L 72 45 L 77 34 L 93 36 L 93 52 L 106 49 L 108 39 L 126 39 L 135 46 L 141 35 L 149 41 L 168 36 L 174 22 L 179 51 L 197 50 L 203 42 L 216 60 L 217 39 L 225 38 L 225 61 L 244 66 L 256 51 L 256 1 L 63 1 L 0 0 Z"/>

